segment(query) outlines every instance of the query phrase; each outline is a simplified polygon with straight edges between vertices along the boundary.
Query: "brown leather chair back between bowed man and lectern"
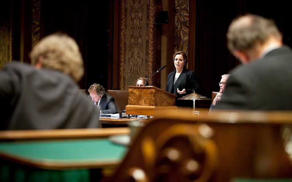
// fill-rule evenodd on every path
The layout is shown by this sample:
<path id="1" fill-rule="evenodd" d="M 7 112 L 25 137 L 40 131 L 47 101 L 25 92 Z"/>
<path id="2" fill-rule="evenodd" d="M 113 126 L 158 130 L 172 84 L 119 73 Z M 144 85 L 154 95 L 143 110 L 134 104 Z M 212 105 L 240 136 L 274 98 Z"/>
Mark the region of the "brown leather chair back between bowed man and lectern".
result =
<path id="1" fill-rule="evenodd" d="M 114 103 L 118 111 L 123 111 L 128 105 L 129 92 L 128 90 L 108 90 L 107 93 L 114 97 Z"/>

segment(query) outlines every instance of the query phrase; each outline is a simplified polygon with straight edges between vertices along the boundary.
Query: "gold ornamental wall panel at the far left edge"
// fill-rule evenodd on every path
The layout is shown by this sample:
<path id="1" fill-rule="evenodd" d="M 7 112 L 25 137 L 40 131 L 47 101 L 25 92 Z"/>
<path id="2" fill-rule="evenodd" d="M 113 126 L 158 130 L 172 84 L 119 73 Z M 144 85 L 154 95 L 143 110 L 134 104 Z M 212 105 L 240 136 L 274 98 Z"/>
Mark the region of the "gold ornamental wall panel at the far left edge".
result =
<path id="1" fill-rule="evenodd" d="M 0 69 L 12 59 L 12 2 L 1 2 L 0 8 Z"/>

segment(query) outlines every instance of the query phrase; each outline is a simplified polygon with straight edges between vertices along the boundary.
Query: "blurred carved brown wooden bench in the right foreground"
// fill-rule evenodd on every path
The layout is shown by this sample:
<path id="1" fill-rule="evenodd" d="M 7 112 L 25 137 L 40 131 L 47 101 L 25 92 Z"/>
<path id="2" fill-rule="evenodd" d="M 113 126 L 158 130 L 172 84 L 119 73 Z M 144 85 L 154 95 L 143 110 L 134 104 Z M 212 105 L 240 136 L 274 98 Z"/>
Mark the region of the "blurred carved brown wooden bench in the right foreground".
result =
<path id="1" fill-rule="evenodd" d="M 164 112 L 134 139 L 108 181 L 231 181 L 291 178 L 292 112 Z M 192 113 L 190 111 L 189 113 Z M 283 132 L 284 133 L 284 132 Z M 292 143 L 292 141 L 290 141 Z M 285 146 L 286 145 L 286 146 Z M 291 144 L 288 144 L 291 147 Z M 291 152 L 292 153 L 292 152 Z M 235 180 L 236 181 L 236 180 Z"/>

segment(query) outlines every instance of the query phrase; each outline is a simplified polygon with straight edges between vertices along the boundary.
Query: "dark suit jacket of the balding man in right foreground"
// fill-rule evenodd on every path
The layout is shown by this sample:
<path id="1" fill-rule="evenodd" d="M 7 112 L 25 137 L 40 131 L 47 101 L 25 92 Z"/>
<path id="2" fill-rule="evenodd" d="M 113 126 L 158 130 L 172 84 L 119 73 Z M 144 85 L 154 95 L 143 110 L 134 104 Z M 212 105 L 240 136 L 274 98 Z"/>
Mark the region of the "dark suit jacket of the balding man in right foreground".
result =
<path id="1" fill-rule="evenodd" d="M 292 110 L 292 50 L 283 46 L 231 72 L 215 109 Z"/>

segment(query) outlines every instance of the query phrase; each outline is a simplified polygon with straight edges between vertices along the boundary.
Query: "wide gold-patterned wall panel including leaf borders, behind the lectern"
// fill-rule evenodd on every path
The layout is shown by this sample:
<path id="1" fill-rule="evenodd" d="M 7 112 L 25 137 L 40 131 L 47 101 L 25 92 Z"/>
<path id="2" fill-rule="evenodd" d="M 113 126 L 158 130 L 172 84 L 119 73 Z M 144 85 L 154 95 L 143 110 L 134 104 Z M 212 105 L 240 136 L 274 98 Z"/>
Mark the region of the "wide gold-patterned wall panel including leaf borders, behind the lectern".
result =
<path id="1" fill-rule="evenodd" d="M 155 70 L 156 1 L 122 0 L 121 3 L 121 90 L 136 84 Z M 149 79 L 149 84 L 152 84 Z"/>

